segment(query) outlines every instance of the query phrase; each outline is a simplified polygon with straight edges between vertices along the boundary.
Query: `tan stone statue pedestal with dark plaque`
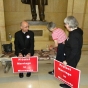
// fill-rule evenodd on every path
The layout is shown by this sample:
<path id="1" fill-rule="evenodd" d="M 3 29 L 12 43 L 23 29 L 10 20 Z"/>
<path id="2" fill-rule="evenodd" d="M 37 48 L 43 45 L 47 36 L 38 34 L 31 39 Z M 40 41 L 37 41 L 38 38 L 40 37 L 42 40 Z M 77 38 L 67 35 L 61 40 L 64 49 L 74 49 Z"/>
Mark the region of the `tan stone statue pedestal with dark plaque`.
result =
<path id="1" fill-rule="evenodd" d="M 47 29 L 48 22 L 28 21 L 29 30 L 34 32 L 35 50 L 46 49 L 47 45 L 52 45 L 53 41 L 49 40 L 50 32 Z"/>

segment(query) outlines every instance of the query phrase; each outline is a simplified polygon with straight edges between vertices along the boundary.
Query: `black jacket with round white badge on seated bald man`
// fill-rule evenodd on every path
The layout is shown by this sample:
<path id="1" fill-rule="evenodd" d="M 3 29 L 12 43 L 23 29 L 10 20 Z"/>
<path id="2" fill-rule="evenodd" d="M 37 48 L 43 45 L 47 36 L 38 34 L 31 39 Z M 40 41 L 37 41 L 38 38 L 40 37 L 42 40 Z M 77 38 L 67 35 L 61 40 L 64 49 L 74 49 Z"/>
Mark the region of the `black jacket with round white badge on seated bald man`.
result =
<path id="1" fill-rule="evenodd" d="M 16 32 L 14 44 L 17 56 L 19 53 L 23 55 L 30 53 L 32 56 L 34 54 L 34 33 L 30 30 L 25 34 L 21 30 Z"/>

